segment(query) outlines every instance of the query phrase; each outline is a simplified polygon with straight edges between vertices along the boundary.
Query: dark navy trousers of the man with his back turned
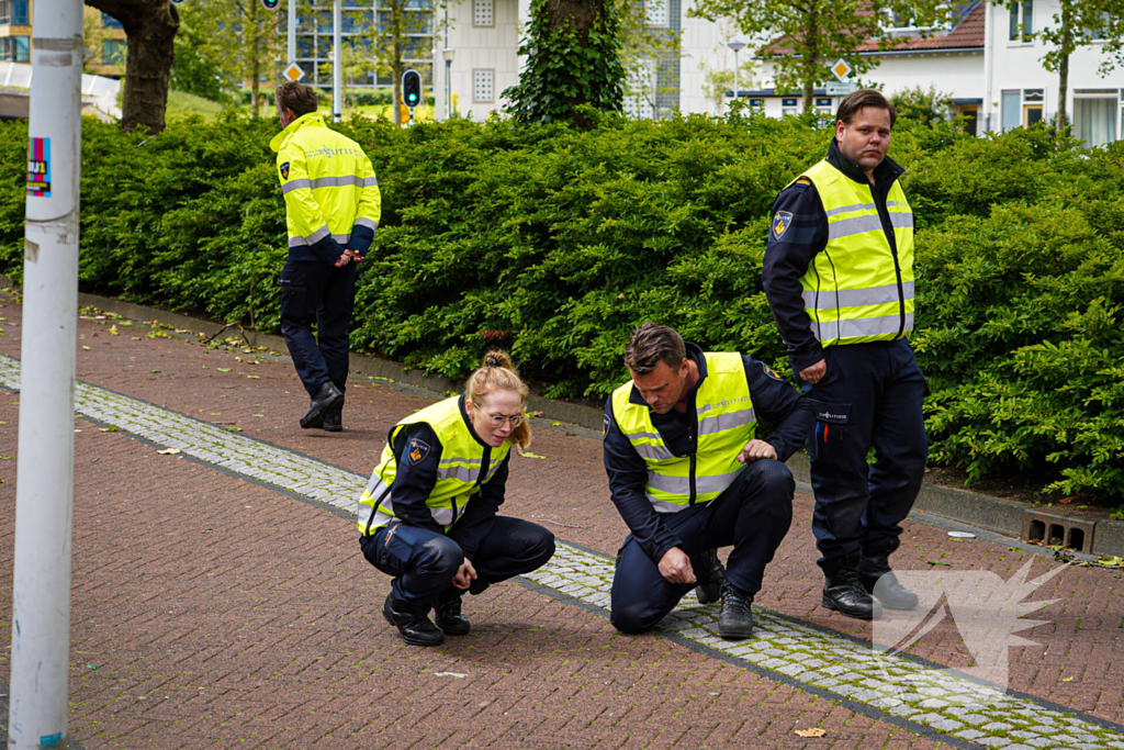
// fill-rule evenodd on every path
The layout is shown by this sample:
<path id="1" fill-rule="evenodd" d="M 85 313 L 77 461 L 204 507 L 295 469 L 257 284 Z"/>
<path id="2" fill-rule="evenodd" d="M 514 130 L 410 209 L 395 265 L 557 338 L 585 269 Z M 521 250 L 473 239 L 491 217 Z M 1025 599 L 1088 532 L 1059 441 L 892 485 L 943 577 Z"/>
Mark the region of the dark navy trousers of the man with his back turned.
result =
<path id="1" fill-rule="evenodd" d="M 354 306 L 355 263 L 337 269 L 321 261 L 285 261 L 281 270 L 281 333 L 309 396 L 328 380 L 341 391 L 346 389 L 347 326 Z"/>

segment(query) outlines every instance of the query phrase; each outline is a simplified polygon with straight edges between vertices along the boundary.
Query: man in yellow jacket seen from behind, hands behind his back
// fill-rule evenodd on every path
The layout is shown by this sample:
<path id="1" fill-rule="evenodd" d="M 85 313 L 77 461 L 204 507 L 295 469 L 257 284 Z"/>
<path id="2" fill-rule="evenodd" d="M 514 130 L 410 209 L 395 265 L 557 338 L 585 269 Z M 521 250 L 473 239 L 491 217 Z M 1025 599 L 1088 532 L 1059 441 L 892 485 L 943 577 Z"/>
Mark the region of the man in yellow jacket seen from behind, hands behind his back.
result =
<path id="1" fill-rule="evenodd" d="M 281 333 L 311 397 L 300 426 L 343 430 L 355 268 L 379 227 L 382 198 L 363 148 L 328 129 L 316 91 L 290 82 L 277 88 L 284 128 L 270 147 L 289 227 L 281 271 Z M 316 325 L 317 336 L 312 335 Z"/>

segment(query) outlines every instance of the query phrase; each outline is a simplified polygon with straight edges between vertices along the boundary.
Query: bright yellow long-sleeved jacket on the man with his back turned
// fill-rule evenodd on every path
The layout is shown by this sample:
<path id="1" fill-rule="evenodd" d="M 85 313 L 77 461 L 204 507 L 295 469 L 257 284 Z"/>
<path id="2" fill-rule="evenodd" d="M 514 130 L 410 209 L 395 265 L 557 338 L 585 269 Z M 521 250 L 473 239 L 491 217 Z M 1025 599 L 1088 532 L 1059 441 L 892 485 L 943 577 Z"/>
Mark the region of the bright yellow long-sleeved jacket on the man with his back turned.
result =
<path id="1" fill-rule="evenodd" d="M 270 142 L 289 227 L 289 259 L 335 263 L 344 249 L 365 255 L 379 228 L 382 196 L 363 148 L 301 115 Z"/>

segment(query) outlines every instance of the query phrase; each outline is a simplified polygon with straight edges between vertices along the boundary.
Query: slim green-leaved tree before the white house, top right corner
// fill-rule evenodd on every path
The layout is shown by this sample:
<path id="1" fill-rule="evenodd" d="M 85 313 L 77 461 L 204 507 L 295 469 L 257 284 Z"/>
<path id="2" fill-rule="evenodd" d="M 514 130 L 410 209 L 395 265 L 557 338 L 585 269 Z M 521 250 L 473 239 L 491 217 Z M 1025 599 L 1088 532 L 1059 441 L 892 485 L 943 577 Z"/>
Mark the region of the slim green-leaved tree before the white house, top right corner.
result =
<path id="1" fill-rule="evenodd" d="M 1053 15 L 1053 24 L 1041 31 L 1028 34 L 1051 45 L 1042 55 L 1042 66 L 1058 74 L 1058 117 L 1054 121 L 1058 133 L 1064 133 L 1069 124 L 1066 97 L 1069 92 L 1069 58 L 1095 39 L 1107 39 L 1104 60 L 1098 71 L 1106 75 L 1124 63 L 1124 0 L 1059 0 L 1061 8 Z M 1016 12 L 1018 2 L 1007 7 Z"/>

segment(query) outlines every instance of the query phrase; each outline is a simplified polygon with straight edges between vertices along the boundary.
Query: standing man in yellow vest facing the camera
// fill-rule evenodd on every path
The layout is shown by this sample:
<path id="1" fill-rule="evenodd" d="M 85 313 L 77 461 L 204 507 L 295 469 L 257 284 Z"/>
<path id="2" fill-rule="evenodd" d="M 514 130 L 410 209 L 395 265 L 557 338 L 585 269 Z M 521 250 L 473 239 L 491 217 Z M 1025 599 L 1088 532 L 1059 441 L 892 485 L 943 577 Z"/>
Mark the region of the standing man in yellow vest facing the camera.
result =
<path id="1" fill-rule="evenodd" d="M 889 555 L 925 473 L 925 378 L 906 338 L 913 211 L 904 170 L 886 156 L 897 112 L 865 89 L 845 98 L 835 117 L 827 159 L 773 202 L 763 280 L 816 413 L 807 448 L 823 605 L 870 620 L 881 606 L 917 606 Z"/>

